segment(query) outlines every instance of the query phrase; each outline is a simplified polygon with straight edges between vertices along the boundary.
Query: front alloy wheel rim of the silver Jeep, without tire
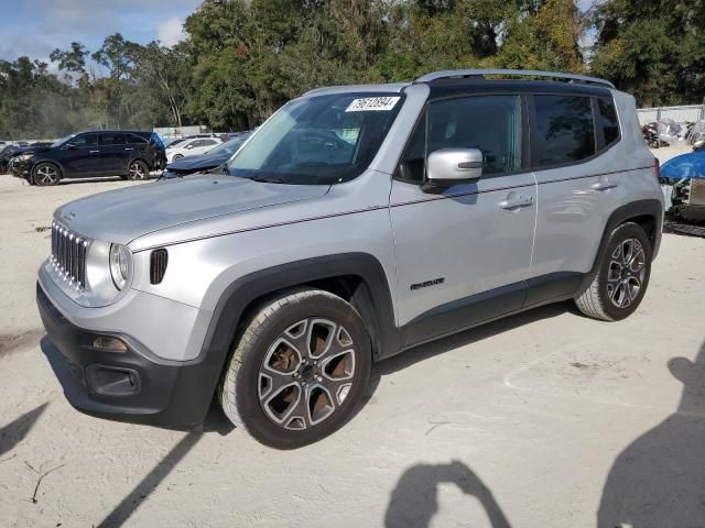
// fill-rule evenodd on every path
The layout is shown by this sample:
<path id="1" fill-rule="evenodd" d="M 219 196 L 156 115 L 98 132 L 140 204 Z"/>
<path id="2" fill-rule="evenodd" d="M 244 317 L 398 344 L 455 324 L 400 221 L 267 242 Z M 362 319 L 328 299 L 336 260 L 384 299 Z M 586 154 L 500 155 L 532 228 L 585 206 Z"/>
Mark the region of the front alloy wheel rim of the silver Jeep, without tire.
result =
<path id="1" fill-rule="evenodd" d="M 350 333 L 330 319 L 303 319 L 280 333 L 264 355 L 258 374 L 260 406 L 284 429 L 308 429 L 344 404 L 354 376 Z"/>

